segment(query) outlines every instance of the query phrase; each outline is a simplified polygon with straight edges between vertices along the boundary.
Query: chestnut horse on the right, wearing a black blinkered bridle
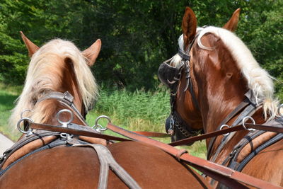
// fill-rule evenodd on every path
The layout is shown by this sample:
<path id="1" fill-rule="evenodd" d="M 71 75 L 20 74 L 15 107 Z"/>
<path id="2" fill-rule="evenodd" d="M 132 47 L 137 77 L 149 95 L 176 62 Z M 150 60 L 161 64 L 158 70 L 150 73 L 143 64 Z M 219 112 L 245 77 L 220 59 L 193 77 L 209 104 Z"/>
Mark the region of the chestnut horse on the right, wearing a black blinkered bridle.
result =
<path id="1" fill-rule="evenodd" d="M 272 77 L 259 66 L 248 47 L 232 33 L 236 29 L 238 15 L 239 9 L 224 28 L 197 28 L 195 13 L 186 8 L 183 35 L 178 40 L 179 52 L 167 63 L 161 64 L 158 73 L 172 92 L 172 118 L 169 118 L 171 124 L 167 129 L 174 132 L 173 140 L 191 137 L 199 130 L 208 133 L 227 127 L 220 128 L 221 125 L 241 124 L 247 115 L 258 124 L 278 119 Z M 233 152 L 238 151 L 235 147 L 238 142 L 245 136 L 246 141 L 250 142 L 248 132 L 243 130 L 226 137 L 221 135 L 215 140 L 207 139 L 207 159 L 231 166 Z M 240 156 L 242 160 L 250 157 L 250 151 L 256 155 L 238 171 L 283 186 L 282 135 L 277 134 L 277 141 L 265 149 L 254 151 L 262 145 L 260 142 L 269 140 L 275 134 L 267 132 L 258 135 L 246 145 L 238 154 L 238 159 Z M 238 159 L 236 164 L 241 164 Z"/>

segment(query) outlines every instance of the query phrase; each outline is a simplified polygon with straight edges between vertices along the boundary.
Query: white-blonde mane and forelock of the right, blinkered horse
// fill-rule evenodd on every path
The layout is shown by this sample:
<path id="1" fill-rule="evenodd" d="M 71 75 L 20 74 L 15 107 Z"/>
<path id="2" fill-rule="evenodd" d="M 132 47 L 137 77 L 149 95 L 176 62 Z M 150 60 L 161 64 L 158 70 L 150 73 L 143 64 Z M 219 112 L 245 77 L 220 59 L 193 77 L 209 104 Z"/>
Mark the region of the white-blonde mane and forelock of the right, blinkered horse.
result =
<path id="1" fill-rule="evenodd" d="M 270 76 L 265 69 L 260 67 L 243 41 L 229 30 L 216 28 L 213 26 L 197 28 L 197 33 L 199 34 L 197 38 L 197 45 L 204 50 L 213 50 L 213 48 L 202 45 L 201 38 L 203 35 L 206 33 L 213 33 L 217 37 L 221 38 L 222 42 L 224 42 L 224 45 L 226 45 L 228 50 L 231 52 L 233 59 L 236 60 L 236 64 L 241 70 L 241 73 L 248 81 L 248 88 L 253 91 L 257 103 L 259 101 L 263 102 L 265 118 L 267 118 L 267 115 L 270 115 L 270 119 L 275 118 L 275 116 L 277 116 L 279 102 L 273 97 L 274 84 L 272 79 L 274 78 L 272 78 L 272 76 Z M 178 43 L 179 49 L 183 50 L 183 35 L 180 35 Z M 186 53 L 188 54 L 189 52 Z M 182 58 L 177 54 L 172 58 L 171 65 L 178 65 L 181 61 Z"/>

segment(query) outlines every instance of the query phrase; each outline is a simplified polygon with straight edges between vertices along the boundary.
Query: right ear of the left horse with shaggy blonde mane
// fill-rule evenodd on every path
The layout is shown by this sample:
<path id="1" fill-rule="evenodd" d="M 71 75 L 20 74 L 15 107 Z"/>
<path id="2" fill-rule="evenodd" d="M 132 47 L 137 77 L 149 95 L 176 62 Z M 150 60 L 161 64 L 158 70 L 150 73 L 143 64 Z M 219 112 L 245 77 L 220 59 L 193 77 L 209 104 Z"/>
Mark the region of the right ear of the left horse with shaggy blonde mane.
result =
<path id="1" fill-rule="evenodd" d="M 83 50 L 83 56 L 88 59 L 88 66 L 92 66 L 94 62 L 96 62 L 96 58 L 98 57 L 98 54 L 100 52 L 101 48 L 101 40 L 98 39 L 96 42 L 91 45 L 91 47 L 88 47 L 86 50 Z"/>

